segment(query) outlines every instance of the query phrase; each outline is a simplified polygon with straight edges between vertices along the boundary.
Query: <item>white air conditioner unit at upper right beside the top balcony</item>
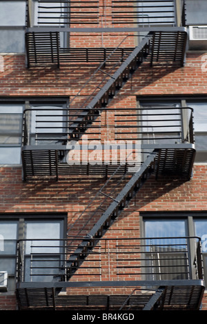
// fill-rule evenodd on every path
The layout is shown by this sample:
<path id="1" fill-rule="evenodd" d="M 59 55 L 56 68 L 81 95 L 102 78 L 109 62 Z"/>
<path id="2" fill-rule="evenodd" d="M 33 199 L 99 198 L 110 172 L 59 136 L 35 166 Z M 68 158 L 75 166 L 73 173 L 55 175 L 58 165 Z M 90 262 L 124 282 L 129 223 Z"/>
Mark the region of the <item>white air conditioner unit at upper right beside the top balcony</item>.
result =
<path id="1" fill-rule="evenodd" d="M 189 26 L 189 50 L 207 50 L 207 26 Z"/>

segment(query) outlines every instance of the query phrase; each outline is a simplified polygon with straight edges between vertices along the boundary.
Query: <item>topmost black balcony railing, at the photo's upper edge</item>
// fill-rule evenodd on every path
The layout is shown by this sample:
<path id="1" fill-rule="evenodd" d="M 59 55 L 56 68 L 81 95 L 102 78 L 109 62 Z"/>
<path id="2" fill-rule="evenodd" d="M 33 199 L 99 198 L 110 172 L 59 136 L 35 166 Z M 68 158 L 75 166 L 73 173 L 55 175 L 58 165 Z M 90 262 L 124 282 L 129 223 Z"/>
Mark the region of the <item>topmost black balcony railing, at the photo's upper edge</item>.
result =
<path id="1" fill-rule="evenodd" d="M 47 1 L 28 0 L 27 26 L 108 27 L 185 26 L 184 0 Z"/>

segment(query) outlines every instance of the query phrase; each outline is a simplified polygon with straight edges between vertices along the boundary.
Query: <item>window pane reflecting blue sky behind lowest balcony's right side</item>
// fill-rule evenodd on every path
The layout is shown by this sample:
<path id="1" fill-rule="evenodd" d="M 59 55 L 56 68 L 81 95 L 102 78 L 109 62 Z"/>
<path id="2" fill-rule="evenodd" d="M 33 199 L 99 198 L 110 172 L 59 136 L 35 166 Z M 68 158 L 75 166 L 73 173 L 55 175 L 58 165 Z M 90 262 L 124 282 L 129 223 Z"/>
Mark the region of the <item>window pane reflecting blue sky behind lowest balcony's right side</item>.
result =
<path id="1" fill-rule="evenodd" d="M 184 220 L 145 222 L 146 229 L 146 279 L 187 279 L 186 222 Z M 154 239 L 154 238 L 157 239 Z M 177 237 L 177 239 L 176 239 Z"/>

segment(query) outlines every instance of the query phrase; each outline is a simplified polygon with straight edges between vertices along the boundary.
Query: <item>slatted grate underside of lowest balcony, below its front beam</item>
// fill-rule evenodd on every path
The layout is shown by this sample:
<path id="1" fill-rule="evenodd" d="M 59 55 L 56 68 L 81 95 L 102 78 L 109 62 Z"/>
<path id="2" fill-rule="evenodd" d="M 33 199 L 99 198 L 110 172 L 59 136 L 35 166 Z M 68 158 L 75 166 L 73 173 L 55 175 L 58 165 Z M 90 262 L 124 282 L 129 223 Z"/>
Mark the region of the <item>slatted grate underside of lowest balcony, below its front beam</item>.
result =
<path id="1" fill-rule="evenodd" d="M 19 288 L 17 300 L 21 310 L 143 310 L 153 292 L 125 294 L 61 295 L 55 288 Z M 199 285 L 168 286 L 161 298 L 161 310 L 198 310 L 204 287 Z M 127 303 L 126 303 L 127 300 Z"/>

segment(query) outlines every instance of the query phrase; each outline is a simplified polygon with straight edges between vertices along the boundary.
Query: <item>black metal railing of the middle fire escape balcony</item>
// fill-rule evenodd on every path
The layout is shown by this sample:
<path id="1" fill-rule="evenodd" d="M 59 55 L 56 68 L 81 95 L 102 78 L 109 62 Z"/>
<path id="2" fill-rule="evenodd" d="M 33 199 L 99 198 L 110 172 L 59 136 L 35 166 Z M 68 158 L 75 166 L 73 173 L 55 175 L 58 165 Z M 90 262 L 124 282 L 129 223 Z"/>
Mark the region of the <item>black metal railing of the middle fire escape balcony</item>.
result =
<path id="1" fill-rule="evenodd" d="M 191 108 L 34 108 L 23 112 L 22 145 L 67 145 L 70 141 L 194 143 Z"/>

